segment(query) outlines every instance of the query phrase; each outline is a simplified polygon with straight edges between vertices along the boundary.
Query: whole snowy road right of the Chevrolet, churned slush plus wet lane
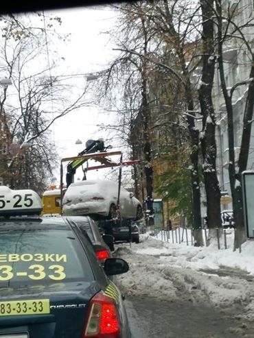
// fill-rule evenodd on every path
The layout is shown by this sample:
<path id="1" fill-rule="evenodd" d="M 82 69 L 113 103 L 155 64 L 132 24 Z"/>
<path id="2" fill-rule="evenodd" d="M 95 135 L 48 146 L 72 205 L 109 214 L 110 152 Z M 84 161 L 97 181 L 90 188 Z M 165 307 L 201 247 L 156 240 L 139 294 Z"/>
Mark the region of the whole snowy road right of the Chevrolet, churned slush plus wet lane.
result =
<path id="1" fill-rule="evenodd" d="M 253 276 L 209 264 L 200 269 L 201 250 L 180 247 L 151 237 L 131 248 L 117 245 L 115 256 L 130 265 L 117 283 L 133 338 L 253 338 Z"/>

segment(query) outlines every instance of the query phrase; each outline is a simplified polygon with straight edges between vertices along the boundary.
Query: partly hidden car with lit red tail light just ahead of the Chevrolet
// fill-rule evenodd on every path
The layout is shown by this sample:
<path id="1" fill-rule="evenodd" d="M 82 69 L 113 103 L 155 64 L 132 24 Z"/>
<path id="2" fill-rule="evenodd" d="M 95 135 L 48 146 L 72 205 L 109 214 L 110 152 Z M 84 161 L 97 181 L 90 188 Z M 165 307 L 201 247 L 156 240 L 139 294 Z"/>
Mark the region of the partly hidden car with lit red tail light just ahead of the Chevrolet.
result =
<path id="1" fill-rule="evenodd" d="M 97 258 L 101 263 L 104 263 L 106 258 L 112 257 L 111 251 L 114 251 L 114 239 L 109 234 L 100 234 L 100 230 L 89 216 L 67 216 L 68 220 L 75 222 L 75 224 L 88 234 L 93 248 L 96 252 Z"/>

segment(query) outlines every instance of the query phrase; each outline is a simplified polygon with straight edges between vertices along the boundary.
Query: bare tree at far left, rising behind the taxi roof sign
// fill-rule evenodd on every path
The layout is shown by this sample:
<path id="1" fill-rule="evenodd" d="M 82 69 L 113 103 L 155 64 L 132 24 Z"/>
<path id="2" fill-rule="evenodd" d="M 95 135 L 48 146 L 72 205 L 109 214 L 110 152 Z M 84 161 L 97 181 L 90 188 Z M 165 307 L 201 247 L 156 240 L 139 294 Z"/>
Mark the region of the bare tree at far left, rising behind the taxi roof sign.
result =
<path id="1" fill-rule="evenodd" d="M 10 173 L 6 183 L 15 188 L 37 186 L 42 191 L 56 165 L 51 126 L 56 119 L 88 104 L 86 85 L 71 86 L 65 77 L 56 75 L 56 60 L 49 59 L 50 43 L 45 38 L 49 29 L 45 17 L 43 27 L 31 27 L 22 17 L 1 19 L 4 34 L 0 41 L 0 75 L 12 80 L 12 86 L 5 86 L 0 97 L 1 120 L 8 130 L 8 146 L 21 146 L 16 156 L 5 156 L 2 167 Z M 25 151 L 24 144 L 30 149 Z"/>

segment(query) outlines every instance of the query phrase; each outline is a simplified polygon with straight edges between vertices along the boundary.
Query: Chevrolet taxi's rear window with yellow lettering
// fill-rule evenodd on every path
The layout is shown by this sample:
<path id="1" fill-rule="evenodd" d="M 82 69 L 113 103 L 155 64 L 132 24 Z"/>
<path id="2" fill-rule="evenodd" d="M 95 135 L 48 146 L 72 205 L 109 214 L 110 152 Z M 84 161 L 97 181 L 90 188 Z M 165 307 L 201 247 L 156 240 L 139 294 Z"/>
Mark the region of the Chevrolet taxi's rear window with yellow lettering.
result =
<path id="1" fill-rule="evenodd" d="M 93 273 L 71 230 L 22 227 L 0 232 L 0 287 L 77 280 L 93 280 Z"/>

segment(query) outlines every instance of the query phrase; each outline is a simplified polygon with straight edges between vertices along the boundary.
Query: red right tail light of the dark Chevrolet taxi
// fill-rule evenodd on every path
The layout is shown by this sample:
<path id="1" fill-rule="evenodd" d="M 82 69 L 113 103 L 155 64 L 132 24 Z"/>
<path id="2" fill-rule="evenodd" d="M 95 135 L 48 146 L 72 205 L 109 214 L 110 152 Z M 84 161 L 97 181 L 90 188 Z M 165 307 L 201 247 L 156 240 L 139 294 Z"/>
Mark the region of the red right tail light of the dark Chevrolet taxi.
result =
<path id="1" fill-rule="evenodd" d="M 82 338 L 119 338 L 120 324 L 115 301 L 97 293 L 90 304 Z"/>

